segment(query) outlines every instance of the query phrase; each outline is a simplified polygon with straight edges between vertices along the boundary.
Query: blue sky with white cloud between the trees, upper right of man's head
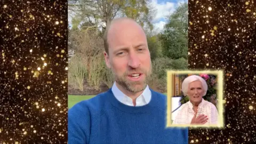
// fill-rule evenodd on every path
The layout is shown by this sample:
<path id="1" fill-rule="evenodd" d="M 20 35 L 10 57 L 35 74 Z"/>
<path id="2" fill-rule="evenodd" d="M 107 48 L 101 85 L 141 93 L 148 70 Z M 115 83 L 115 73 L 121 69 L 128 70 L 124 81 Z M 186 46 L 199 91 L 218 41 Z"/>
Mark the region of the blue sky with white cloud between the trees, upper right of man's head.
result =
<path id="1" fill-rule="evenodd" d="M 153 19 L 154 31 L 161 32 L 167 22 L 166 16 L 173 13 L 182 3 L 188 3 L 188 0 L 151 0 L 150 5 L 156 9 L 156 15 Z"/>

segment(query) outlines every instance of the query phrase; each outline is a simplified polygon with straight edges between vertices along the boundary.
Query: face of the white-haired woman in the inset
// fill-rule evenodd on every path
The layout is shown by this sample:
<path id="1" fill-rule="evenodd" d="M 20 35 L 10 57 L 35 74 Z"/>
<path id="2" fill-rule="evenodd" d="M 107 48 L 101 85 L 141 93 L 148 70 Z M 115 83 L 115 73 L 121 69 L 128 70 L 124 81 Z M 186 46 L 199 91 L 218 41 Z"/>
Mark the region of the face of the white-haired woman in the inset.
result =
<path id="1" fill-rule="evenodd" d="M 191 102 L 200 102 L 204 93 L 202 83 L 200 81 L 191 82 L 187 93 Z"/>

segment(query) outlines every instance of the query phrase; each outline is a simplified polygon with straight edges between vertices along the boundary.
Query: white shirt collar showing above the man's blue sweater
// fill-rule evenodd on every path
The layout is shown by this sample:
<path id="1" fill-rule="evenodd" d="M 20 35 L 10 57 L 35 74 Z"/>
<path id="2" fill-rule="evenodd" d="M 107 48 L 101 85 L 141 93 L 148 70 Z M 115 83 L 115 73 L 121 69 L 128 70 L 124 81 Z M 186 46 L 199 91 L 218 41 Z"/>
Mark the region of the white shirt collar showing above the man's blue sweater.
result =
<path id="1" fill-rule="evenodd" d="M 127 106 L 134 106 L 132 99 L 118 89 L 118 87 L 116 86 L 116 82 L 112 86 L 111 90 L 118 101 L 124 103 L 124 105 L 127 105 Z M 147 85 L 146 89 L 136 99 L 136 107 L 147 105 L 150 100 L 151 100 L 151 91 L 149 90 L 149 87 Z"/>

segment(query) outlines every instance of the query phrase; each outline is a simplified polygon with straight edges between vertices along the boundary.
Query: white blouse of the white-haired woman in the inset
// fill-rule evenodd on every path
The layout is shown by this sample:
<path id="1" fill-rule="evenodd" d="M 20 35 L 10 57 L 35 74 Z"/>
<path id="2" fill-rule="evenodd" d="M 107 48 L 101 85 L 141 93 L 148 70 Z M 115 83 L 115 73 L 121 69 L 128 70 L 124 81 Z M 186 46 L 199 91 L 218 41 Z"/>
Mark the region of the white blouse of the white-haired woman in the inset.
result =
<path id="1" fill-rule="evenodd" d="M 213 103 L 202 99 L 202 102 L 198 105 L 197 116 L 201 114 L 209 118 L 204 125 L 218 124 L 218 110 Z M 188 101 L 179 108 L 173 124 L 190 124 L 194 115 L 193 104 Z"/>

